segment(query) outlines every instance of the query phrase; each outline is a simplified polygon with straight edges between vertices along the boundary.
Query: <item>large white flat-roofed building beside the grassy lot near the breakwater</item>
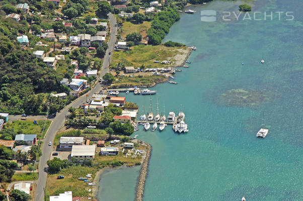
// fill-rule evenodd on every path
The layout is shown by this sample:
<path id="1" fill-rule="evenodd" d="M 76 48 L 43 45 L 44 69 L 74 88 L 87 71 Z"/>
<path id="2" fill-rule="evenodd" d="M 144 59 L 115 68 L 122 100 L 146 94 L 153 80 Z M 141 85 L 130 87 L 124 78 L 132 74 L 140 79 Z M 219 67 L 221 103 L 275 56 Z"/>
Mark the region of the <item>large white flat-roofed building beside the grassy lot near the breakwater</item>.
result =
<path id="1" fill-rule="evenodd" d="M 73 145 L 71 148 L 71 157 L 78 162 L 88 159 L 95 159 L 96 145 Z"/>

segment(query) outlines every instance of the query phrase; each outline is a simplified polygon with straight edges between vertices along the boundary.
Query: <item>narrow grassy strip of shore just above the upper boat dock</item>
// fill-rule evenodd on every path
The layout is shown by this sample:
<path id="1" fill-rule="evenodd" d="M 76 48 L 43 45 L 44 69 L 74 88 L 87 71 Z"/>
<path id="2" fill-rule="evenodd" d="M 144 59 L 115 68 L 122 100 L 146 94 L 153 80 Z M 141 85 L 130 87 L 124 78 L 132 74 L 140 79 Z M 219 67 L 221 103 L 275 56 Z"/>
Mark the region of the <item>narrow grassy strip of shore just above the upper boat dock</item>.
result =
<path id="1" fill-rule="evenodd" d="M 167 81 L 164 75 L 151 75 L 151 76 L 120 76 L 118 80 L 115 81 L 113 87 L 132 87 L 132 86 L 149 86 L 153 83 L 162 83 Z"/>

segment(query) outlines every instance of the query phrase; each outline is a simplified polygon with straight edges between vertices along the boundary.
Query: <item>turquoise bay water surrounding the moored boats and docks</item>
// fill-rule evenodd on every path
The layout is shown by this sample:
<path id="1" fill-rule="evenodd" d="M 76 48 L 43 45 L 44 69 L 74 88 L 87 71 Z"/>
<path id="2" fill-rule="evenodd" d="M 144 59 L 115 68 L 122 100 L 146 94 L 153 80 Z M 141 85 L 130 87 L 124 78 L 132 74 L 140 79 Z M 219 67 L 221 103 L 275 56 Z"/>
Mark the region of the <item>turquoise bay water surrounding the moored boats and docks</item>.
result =
<path id="1" fill-rule="evenodd" d="M 189 58 L 190 67 L 176 74 L 178 85 L 153 88 L 158 90 L 152 96 L 153 111 L 157 97 L 160 111 L 165 103 L 166 115 L 178 113 L 182 105 L 189 132 L 178 135 L 168 126 L 161 133 L 143 128 L 135 133 L 153 146 L 143 200 L 241 200 L 243 195 L 248 201 L 302 200 L 303 6 L 299 0 L 248 2 L 253 11 L 284 15 L 280 21 L 277 15 L 272 21 L 221 20 L 223 11 L 237 12 L 241 3 L 191 7 L 197 13 L 181 14 L 165 38 L 198 50 Z M 201 10 L 216 10 L 217 21 L 201 22 Z M 285 20 L 288 11 L 294 12 L 294 21 Z M 253 108 L 226 104 L 221 94 L 239 88 L 262 91 L 268 100 Z M 147 112 L 149 96 L 126 97 Z M 270 130 L 259 139 L 263 113 Z M 131 175 L 133 182 L 138 176 L 134 168 L 118 172 Z M 109 177 L 116 180 L 112 186 L 105 182 Z M 100 200 L 132 200 L 121 198 L 135 192 L 120 184 L 123 179 L 102 176 L 104 190 L 115 186 L 121 193 L 101 193 Z"/>

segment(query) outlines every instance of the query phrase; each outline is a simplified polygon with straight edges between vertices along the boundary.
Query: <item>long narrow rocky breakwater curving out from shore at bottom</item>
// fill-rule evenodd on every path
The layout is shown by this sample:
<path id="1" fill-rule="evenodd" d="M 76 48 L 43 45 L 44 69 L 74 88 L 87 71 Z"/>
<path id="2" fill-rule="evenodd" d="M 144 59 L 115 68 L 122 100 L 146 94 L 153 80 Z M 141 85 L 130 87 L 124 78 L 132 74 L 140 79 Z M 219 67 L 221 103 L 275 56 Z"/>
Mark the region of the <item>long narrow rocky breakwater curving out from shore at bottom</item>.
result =
<path id="1" fill-rule="evenodd" d="M 150 146 L 148 143 L 143 142 L 138 140 L 137 141 L 139 144 L 143 144 L 147 147 L 146 149 L 146 154 L 144 158 L 142 159 L 142 166 L 141 166 L 141 171 L 140 175 L 138 178 L 138 184 L 137 184 L 137 192 L 136 192 L 136 201 L 141 201 L 144 193 L 144 185 L 145 185 L 145 180 L 147 176 L 147 171 L 148 171 L 148 163 L 149 163 L 149 158 L 150 154 L 152 153 L 152 146 Z"/>

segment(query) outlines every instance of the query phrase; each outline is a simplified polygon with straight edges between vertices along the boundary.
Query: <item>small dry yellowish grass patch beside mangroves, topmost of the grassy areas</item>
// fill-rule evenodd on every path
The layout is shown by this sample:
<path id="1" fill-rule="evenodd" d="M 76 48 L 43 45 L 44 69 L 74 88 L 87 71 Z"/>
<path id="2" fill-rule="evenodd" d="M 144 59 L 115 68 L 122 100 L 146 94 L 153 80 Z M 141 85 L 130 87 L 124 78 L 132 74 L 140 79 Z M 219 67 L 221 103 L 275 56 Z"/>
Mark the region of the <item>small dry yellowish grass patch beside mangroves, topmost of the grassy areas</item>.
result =
<path id="1" fill-rule="evenodd" d="M 150 28 L 150 22 L 144 21 L 142 24 L 132 24 L 131 22 L 124 22 L 122 26 L 123 32 L 120 35 L 125 38 L 127 34 L 137 32 L 142 35 L 142 38 L 146 37 L 146 31 Z"/>

